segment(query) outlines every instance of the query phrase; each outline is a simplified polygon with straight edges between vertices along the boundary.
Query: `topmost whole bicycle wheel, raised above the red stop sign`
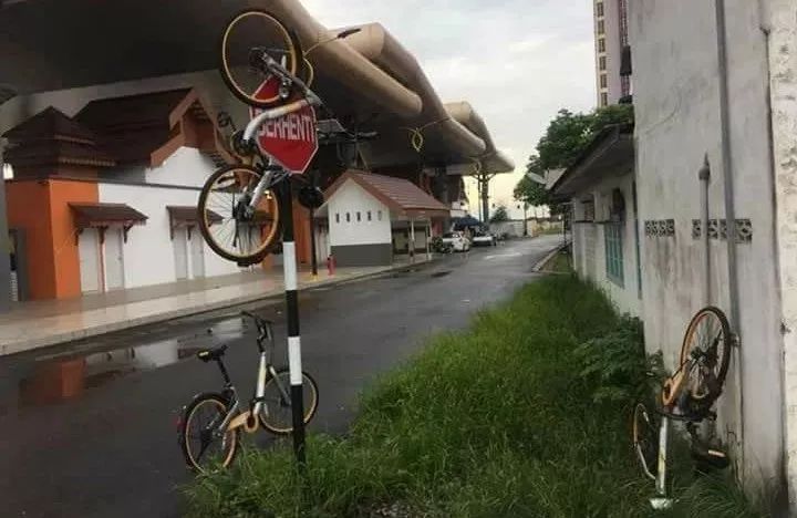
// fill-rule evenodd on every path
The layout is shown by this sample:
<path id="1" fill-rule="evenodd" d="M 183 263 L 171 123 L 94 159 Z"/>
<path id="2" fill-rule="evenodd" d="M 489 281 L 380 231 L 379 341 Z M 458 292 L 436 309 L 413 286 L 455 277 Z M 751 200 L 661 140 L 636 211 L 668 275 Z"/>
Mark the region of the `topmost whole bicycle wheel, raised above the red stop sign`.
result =
<path id="1" fill-rule="evenodd" d="M 221 33 L 221 77 L 232 94 L 244 103 L 268 108 L 283 102 L 277 89 L 265 93 L 260 86 L 270 74 L 256 66 L 257 53 L 267 53 L 293 75 L 304 68 L 299 41 L 273 14 L 247 10 L 234 17 Z"/>

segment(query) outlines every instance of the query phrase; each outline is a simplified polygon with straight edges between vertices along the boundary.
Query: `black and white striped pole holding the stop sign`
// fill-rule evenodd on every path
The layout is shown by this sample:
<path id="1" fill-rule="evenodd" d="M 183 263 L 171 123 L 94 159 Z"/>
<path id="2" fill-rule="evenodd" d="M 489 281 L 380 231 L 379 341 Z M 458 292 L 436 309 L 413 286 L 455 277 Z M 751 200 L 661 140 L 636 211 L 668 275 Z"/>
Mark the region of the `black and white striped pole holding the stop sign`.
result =
<path id="1" fill-rule="evenodd" d="M 304 390 L 302 387 L 301 338 L 299 334 L 299 279 L 297 272 L 296 241 L 293 237 L 293 193 L 290 179 L 281 183 L 282 259 L 286 286 L 286 314 L 288 318 L 288 367 L 291 382 L 291 410 L 293 414 L 293 453 L 299 466 L 304 466 Z"/>

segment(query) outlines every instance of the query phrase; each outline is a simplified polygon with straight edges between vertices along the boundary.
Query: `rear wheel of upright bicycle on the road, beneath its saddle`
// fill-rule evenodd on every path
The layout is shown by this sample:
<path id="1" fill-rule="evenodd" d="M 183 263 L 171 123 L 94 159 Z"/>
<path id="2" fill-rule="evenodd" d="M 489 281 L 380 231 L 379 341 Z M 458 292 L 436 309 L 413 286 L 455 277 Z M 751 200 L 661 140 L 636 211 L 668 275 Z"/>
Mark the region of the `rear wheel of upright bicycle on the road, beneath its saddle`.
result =
<path id="1" fill-rule="evenodd" d="M 214 466 L 227 467 L 235 458 L 238 431 L 216 434 L 228 411 L 227 400 L 211 392 L 198 394 L 183 411 L 179 444 L 192 469 L 205 473 Z"/>

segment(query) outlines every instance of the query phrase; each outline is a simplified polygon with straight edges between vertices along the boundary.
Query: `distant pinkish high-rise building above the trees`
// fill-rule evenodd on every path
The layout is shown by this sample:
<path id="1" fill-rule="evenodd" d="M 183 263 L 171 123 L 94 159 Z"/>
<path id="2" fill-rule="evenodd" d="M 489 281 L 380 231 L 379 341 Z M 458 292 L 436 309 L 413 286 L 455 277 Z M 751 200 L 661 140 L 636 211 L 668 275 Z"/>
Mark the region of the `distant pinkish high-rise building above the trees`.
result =
<path id="1" fill-rule="evenodd" d="M 631 94 L 623 66 L 623 56 L 630 59 L 628 0 L 594 0 L 594 34 L 598 106 L 608 106 Z"/>

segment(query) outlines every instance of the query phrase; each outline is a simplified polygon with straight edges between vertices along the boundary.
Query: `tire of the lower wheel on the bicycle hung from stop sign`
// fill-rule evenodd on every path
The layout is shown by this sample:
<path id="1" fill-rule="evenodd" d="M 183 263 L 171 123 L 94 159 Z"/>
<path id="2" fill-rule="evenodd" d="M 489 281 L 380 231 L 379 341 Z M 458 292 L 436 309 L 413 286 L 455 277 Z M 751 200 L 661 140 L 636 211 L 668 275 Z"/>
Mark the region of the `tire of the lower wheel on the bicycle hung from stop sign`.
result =
<path id="1" fill-rule="evenodd" d="M 236 252 L 235 250 L 230 250 L 224 244 L 220 244 L 214 235 L 214 231 L 211 229 L 211 227 L 214 226 L 214 221 L 211 221 L 211 217 L 215 214 L 214 208 L 216 207 L 209 206 L 209 198 L 211 193 L 214 193 L 214 186 L 216 185 L 216 183 L 225 175 L 229 175 L 230 173 L 235 172 L 246 173 L 257 178 L 262 177 L 261 172 L 247 165 L 231 165 L 217 169 L 208 177 L 201 188 L 201 193 L 199 193 L 199 201 L 197 204 L 197 219 L 199 220 L 199 231 L 201 232 L 205 242 L 210 247 L 214 252 L 227 260 L 237 262 L 240 266 L 249 266 L 262 261 L 266 256 L 268 256 L 269 252 L 271 252 L 279 244 L 282 236 L 282 203 L 280 201 L 279 195 L 275 191 L 271 191 L 271 197 L 273 200 L 271 205 L 271 208 L 273 209 L 271 228 L 267 232 L 266 237 L 262 237 L 261 230 L 262 242 L 260 244 L 260 246 L 248 252 Z M 224 216 L 221 218 L 224 221 Z M 235 218 L 235 215 L 231 215 L 231 218 L 227 219 L 232 218 Z M 236 225 L 237 224 L 238 221 L 236 221 Z"/>

